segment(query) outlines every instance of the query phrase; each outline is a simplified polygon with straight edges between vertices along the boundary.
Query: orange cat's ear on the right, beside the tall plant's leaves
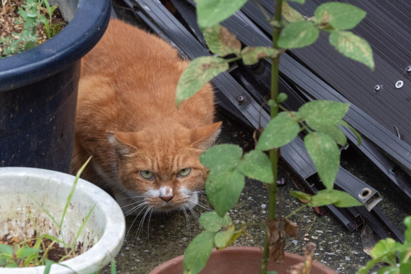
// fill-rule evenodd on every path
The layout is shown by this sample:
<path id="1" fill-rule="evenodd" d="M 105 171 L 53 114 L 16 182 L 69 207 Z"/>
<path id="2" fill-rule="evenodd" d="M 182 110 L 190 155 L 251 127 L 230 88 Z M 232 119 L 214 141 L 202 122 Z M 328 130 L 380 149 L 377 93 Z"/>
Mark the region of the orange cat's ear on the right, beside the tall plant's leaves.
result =
<path id="1" fill-rule="evenodd" d="M 217 122 L 204 127 L 192 129 L 190 132 L 191 143 L 201 150 L 212 146 L 221 131 L 222 122 Z"/>

